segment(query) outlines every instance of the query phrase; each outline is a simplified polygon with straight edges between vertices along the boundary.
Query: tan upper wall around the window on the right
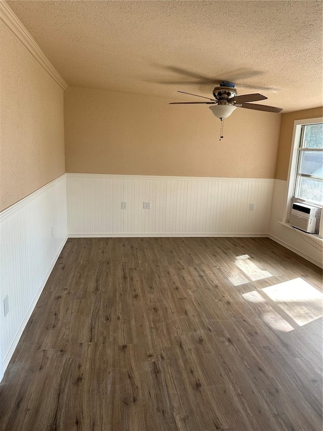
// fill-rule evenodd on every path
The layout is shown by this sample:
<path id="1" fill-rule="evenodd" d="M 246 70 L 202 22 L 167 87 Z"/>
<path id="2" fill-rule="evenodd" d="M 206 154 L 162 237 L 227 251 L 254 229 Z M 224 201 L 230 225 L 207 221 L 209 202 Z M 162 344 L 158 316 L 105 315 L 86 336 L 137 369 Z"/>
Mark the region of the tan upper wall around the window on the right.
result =
<path id="1" fill-rule="evenodd" d="M 288 112 L 282 115 L 279 149 L 277 158 L 276 178 L 287 180 L 289 159 L 292 148 L 294 121 L 323 116 L 323 108 L 306 109 L 304 111 Z"/>

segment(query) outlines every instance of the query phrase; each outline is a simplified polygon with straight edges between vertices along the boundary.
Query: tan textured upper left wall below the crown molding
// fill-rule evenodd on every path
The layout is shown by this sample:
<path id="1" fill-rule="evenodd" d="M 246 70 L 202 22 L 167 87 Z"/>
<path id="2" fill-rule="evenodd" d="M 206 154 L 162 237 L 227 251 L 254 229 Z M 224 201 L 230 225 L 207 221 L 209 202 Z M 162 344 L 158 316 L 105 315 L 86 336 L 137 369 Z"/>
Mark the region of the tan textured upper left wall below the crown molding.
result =
<path id="1" fill-rule="evenodd" d="M 0 210 L 65 172 L 64 91 L 0 21 Z"/>

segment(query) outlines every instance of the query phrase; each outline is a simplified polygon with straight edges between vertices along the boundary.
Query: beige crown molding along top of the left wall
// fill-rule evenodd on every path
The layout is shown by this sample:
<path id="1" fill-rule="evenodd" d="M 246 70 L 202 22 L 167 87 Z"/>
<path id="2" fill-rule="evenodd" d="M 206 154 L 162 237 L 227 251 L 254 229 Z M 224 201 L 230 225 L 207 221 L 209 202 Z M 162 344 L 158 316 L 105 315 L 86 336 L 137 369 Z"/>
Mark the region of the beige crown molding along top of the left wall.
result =
<path id="1" fill-rule="evenodd" d="M 10 28 L 15 36 L 17 36 L 18 39 L 26 46 L 27 50 L 35 57 L 38 63 L 53 78 L 53 80 L 55 80 L 63 89 L 67 88 L 68 84 L 57 72 L 55 67 L 53 67 L 29 31 L 24 27 L 22 22 L 4 0 L 0 1 L 0 18 L 7 25 L 7 27 Z"/>

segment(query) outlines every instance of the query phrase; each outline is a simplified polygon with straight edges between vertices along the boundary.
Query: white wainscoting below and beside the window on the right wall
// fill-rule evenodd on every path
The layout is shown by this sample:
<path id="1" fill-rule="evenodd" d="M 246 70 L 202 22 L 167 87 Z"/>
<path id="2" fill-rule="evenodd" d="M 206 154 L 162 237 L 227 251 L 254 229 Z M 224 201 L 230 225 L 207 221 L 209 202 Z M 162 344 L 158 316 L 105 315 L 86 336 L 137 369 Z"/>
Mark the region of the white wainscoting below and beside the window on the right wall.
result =
<path id="1" fill-rule="evenodd" d="M 287 181 L 275 180 L 269 237 L 294 253 L 322 267 L 323 243 L 282 223 L 286 208 Z"/>

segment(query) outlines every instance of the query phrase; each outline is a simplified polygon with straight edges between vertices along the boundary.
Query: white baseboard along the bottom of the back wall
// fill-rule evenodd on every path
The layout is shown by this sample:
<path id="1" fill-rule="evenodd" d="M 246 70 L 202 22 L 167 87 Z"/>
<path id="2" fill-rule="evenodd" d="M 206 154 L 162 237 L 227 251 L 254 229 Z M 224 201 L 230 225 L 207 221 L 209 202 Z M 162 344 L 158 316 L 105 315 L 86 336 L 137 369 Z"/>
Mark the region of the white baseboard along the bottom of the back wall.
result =
<path id="1" fill-rule="evenodd" d="M 226 236 L 257 236 L 267 237 L 265 233 L 69 233 L 69 238 L 159 238 L 159 237 L 226 237 Z"/>

